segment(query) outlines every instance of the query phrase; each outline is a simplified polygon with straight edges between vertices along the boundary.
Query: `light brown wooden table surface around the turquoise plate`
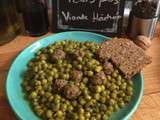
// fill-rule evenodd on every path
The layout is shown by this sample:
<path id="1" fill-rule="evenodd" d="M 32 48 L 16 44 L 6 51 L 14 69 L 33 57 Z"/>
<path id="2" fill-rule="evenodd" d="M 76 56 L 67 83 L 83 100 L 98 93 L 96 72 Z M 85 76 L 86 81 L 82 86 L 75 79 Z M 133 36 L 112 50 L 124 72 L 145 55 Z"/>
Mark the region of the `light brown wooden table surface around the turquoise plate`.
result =
<path id="1" fill-rule="evenodd" d="M 0 46 L 0 120 L 16 120 L 5 93 L 8 69 L 15 57 L 39 38 L 18 36 L 12 42 Z M 144 96 L 131 120 L 160 120 L 160 24 L 157 25 L 152 46 L 146 53 L 152 57 L 152 64 L 143 70 Z"/>

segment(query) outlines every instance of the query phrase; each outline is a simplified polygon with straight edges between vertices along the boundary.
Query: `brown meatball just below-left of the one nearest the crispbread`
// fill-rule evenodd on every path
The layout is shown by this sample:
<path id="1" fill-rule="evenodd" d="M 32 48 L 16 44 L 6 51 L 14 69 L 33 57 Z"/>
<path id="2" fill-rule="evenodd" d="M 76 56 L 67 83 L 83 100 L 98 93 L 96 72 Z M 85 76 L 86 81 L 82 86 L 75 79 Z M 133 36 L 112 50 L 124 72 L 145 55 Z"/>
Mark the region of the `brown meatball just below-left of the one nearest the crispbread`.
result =
<path id="1" fill-rule="evenodd" d="M 103 83 L 103 80 L 106 79 L 106 75 L 103 71 L 98 72 L 94 78 L 91 80 L 93 85 L 101 85 Z"/>

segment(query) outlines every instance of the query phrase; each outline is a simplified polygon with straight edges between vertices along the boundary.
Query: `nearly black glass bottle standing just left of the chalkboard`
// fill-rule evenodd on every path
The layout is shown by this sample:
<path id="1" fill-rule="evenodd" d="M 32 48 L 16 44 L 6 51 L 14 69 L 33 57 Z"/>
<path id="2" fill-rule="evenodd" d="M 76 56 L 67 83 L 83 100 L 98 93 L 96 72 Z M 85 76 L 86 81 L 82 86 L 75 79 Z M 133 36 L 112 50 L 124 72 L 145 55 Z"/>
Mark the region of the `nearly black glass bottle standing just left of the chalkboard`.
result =
<path id="1" fill-rule="evenodd" d="M 24 0 L 23 19 L 26 32 L 30 36 L 40 36 L 48 32 L 48 14 L 45 0 Z"/>

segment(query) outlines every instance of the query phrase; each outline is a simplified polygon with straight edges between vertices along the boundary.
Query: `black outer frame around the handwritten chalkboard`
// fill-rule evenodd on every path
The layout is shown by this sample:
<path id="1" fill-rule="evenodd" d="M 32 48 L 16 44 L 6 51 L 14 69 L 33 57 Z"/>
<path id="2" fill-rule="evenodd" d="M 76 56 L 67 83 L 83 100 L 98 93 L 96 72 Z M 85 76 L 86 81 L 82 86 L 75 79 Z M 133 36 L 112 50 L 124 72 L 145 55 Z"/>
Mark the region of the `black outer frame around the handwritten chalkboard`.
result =
<path id="1" fill-rule="evenodd" d="M 81 30 L 81 29 L 59 29 L 58 28 L 58 15 L 57 15 L 57 1 L 58 0 L 52 0 L 52 31 L 53 32 L 63 32 L 63 31 L 89 31 L 89 32 L 95 32 L 89 29 L 85 29 L 85 30 Z M 124 15 L 124 6 L 125 6 L 125 1 L 126 0 L 120 0 L 120 11 L 119 14 L 122 16 L 121 19 L 118 20 L 118 28 L 117 28 L 117 32 L 116 33 L 110 33 L 110 32 L 101 32 L 101 31 L 96 31 L 95 33 L 99 33 L 99 34 L 103 34 L 103 35 L 107 35 L 107 36 L 119 36 L 122 31 L 123 31 L 123 15 Z M 82 28 L 83 29 L 83 28 Z"/>

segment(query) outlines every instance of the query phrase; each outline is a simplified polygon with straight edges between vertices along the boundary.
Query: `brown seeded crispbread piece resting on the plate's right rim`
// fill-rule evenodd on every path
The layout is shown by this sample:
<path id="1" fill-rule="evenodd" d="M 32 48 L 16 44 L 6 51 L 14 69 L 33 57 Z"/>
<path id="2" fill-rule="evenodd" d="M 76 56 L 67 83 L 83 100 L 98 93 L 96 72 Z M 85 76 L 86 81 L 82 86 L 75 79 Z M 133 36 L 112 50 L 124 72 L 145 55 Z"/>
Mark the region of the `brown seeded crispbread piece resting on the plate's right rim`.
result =
<path id="1" fill-rule="evenodd" d="M 151 63 L 151 57 L 126 38 L 113 38 L 103 42 L 98 55 L 103 60 L 112 61 L 128 79 Z"/>

